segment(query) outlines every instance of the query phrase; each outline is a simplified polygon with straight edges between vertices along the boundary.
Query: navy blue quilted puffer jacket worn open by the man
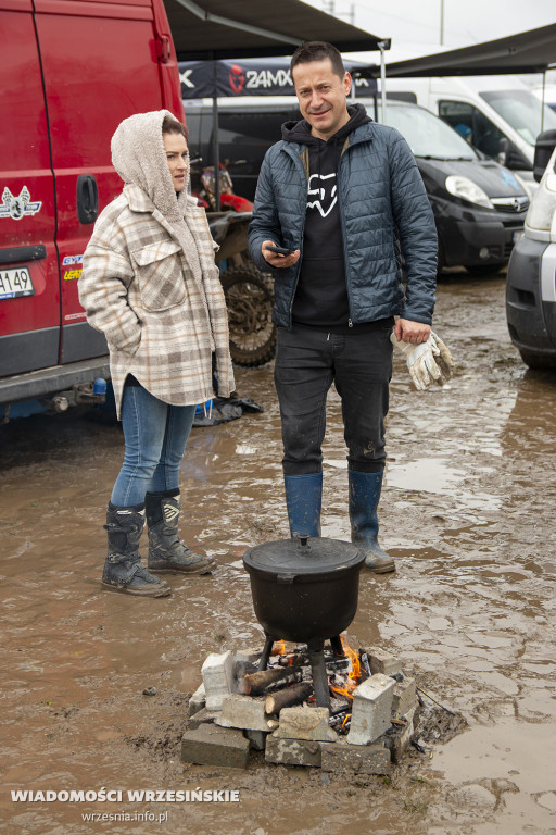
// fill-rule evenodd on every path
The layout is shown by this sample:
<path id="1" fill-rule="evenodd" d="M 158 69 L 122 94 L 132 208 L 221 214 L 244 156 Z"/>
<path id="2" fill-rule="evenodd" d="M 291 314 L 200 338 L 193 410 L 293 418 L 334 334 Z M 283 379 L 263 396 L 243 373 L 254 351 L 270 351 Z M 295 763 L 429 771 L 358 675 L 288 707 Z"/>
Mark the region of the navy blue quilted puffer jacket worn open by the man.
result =
<path id="1" fill-rule="evenodd" d="M 301 249 L 306 211 L 306 146 L 280 141 L 266 153 L 258 177 L 249 246 L 263 270 L 264 240 Z M 353 324 L 394 314 L 430 324 L 437 283 L 437 230 L 409 147 L 394 128 L 369 122 L 350 134 L 338 167 L 345 276 Z M 399 250 L 404 254 L 404 291 Z M 274 321 L 291 327 L 301 266 L 274 270 Z"/>

